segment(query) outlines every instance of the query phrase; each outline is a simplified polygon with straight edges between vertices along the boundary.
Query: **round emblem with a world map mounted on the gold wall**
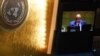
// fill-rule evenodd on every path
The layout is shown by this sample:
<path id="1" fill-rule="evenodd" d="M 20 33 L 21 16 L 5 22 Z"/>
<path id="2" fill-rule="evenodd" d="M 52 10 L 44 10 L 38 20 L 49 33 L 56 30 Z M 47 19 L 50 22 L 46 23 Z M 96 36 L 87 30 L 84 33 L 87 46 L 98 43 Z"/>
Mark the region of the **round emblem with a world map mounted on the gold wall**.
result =
<path id="1" fill-rule="evenodd" d="M 13 30 L 23 24 L 28 12 L 27 0 L 2 0 L 0 3 L 1 29 Z"/>

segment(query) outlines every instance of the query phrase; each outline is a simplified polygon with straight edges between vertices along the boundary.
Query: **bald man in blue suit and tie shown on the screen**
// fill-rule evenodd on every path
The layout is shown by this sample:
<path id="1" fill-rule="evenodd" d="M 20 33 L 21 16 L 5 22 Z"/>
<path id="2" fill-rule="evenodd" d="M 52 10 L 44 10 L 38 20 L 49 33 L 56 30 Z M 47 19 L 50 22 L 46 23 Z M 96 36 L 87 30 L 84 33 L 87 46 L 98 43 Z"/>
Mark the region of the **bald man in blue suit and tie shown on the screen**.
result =
<path id="1" fill-rule="evenodd" d="M 69 27 L 79 27 L 79 30 L 82 31 L 82 26 L 86 25 L 86 21 L 82 20 L 81 14 L 76 14 L 75 20 L 69 23 Z"/>

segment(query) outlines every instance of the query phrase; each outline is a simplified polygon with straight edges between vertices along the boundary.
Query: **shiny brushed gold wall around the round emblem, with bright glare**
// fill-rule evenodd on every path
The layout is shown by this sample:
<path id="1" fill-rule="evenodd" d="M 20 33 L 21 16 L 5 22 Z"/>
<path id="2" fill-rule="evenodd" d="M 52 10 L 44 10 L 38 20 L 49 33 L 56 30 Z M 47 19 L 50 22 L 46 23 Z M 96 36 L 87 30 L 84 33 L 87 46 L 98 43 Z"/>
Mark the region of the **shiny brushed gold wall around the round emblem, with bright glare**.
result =
<path id="1" fill-rule="evenodd" d="M 17 30 L 0 31 L 0 56 L 47 56 L 54 0 L 27 1 L 26 22 Z"/>

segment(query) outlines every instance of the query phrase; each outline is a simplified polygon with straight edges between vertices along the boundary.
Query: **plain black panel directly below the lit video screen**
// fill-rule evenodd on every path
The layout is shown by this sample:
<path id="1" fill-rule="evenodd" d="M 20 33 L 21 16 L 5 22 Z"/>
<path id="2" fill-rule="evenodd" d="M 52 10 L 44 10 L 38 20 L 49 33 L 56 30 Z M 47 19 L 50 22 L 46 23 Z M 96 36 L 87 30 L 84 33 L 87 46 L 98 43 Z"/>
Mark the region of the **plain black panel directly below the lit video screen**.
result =
<path id="1" fill-rule="evenodd" d="M 56 33 L 52 52 L 54 54 L 69 54 L 92 52 L 92 32 Z"/>

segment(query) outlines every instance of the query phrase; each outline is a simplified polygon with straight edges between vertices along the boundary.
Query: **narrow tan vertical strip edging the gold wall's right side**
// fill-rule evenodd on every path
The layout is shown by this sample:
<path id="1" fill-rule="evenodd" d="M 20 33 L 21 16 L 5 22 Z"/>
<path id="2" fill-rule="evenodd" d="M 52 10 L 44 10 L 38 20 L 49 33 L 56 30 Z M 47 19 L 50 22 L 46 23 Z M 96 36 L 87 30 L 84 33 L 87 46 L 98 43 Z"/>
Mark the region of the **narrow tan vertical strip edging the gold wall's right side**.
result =
<path id="1" fill-rule="evenodd" d="M 51 21 L 51 28 L 50 28 L 47 54 L 51 54 L 51 51 L 52 51 L 52 44 L 53 44 L 53 36 L 54 36 L 55 25 L 56 25 L 58 2 L 59 2 L 59 0 L 54 0 L 53 15 L 52 15 L 52 21 Z"/>

